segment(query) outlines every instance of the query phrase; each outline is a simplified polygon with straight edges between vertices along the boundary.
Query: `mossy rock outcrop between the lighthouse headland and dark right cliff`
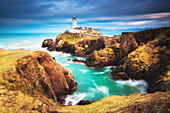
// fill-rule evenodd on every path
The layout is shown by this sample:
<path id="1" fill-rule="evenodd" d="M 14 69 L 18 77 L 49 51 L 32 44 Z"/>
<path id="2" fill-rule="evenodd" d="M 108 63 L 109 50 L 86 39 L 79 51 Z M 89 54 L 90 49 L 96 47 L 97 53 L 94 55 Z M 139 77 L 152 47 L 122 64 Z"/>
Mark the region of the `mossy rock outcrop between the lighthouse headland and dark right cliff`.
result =
<path id="1" fill-rule="evenodd" d="M 87 59 L 89 67 L 105 67 L 116 65 L 119 60 L 138 47 L 133 35 L 123 35 L 113 39 L 106 39 L 103 50 L 94 51 Z"/>

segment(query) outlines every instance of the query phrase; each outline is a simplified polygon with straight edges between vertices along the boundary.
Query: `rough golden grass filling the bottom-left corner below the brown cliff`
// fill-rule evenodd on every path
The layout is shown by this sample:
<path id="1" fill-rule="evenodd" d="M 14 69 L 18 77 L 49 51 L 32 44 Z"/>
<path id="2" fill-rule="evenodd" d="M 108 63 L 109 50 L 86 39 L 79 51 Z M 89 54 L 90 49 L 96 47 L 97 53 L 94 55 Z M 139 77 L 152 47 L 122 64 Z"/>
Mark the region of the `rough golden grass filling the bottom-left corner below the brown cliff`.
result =
<path id="1" fill-rule="evenodd" d="M 32 110 L 38 103 L 33 97 L 24 95 L 20 91 L 9 91 L 0 85 L 0 112 L 1 113 L 23 113 L 38 111 Z"/>

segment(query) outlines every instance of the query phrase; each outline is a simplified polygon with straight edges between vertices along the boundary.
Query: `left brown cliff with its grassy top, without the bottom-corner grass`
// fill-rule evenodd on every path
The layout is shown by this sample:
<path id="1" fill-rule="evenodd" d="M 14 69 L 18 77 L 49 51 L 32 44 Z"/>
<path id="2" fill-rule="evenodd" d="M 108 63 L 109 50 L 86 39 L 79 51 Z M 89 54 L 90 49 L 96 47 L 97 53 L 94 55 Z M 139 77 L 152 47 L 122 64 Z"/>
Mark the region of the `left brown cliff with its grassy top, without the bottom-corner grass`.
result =
<path id="1" fill-rule="evenodd" d="M 0 56 L 4 68 L 0 69 L 0 83 L 7 89 L 46 96 L 56 102 L 62 102 L 61 97 L 76 91 L 73 73 L 46 52 L 3 50 Z"/>

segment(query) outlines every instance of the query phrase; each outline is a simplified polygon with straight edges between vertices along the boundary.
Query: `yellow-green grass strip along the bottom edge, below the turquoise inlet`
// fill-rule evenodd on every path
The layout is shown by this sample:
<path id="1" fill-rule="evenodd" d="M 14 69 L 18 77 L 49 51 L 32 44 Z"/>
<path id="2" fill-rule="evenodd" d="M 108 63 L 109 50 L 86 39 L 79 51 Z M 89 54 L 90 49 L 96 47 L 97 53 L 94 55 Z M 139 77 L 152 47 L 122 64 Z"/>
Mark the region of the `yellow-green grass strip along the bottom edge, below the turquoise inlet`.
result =
<path id="1" fill-rule="evenodd" d="M 160 102 L 168 101 L 168 98 L 169 98 L 168 94 L 164 95 L 163 93 L 155 93 L 155 94 L 135 93 L 130 96 L 106 97 L 101 99 L 100 101 L 85 106 L 75 105 L 75 106 L 59 107 L 55 111 L 62 112 L 62 113 L 106 113 L 106 112 L 119 113 L 119 112 L 123 112 L 125 108 L 130 108 L 128 106 L 135 106 L 136 103 L 139 103 L 139 105 L 144 106 L 145 104 L 148 104 L 150 102 L 155 103 L 157 101 Z M 130 110 L 130 112 L 133 112 L 133 109 Z"/>

